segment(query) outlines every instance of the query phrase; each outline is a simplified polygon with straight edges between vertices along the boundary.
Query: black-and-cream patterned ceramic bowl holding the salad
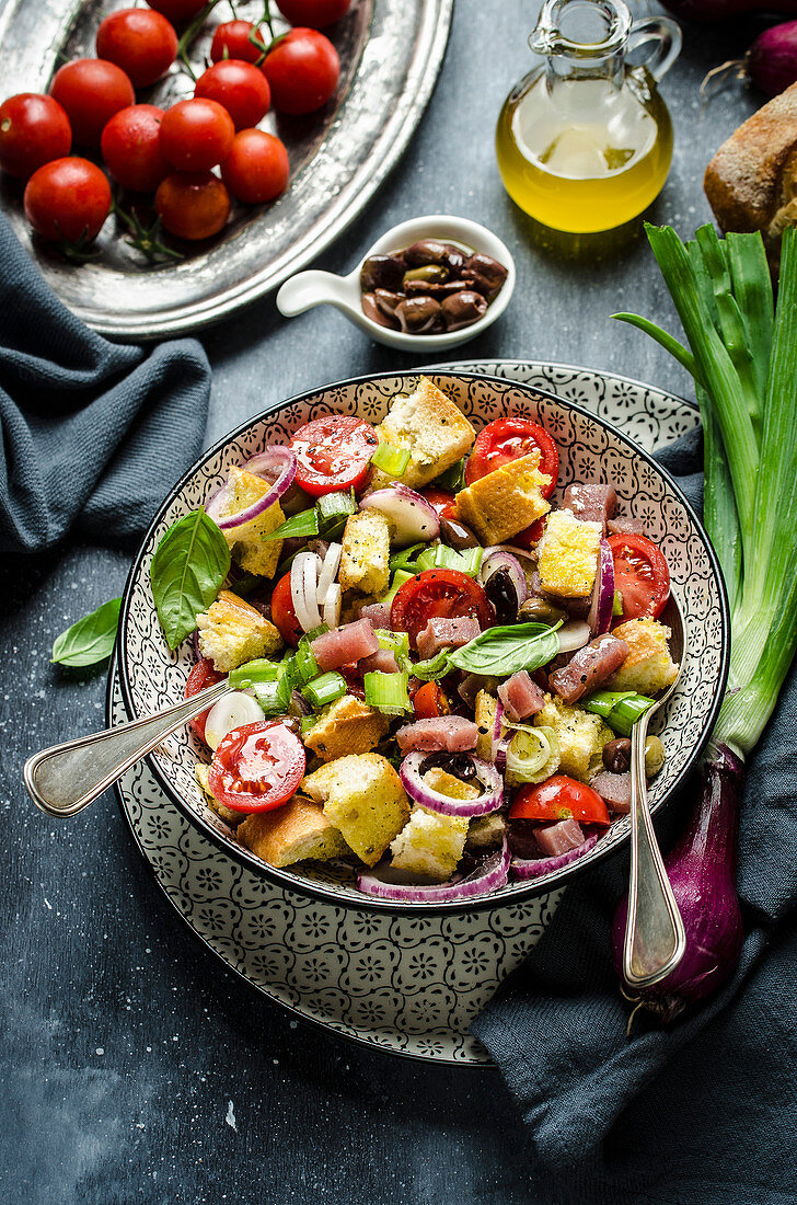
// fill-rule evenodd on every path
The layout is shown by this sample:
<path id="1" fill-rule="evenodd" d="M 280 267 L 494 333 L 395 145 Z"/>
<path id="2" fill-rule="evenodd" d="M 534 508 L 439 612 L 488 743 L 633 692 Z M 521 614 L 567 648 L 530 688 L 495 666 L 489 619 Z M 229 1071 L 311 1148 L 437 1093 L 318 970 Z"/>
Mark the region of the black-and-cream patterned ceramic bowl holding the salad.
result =
<path id="1" fill-rule="evenodd" d="M 668 474 L 618 428 L 572 401 L 497 377 L 465 372 L 430 372 L 435 383 L 456 399 L 478 428 L 500 416 L 530 417 L 555 437 L 561 457 L 557 490 L 572 481 L 610 481 L 626 511 L 642 518 L 669 564 L 673 589 L 684 612 L 687 657 L 678 689 L 654 728 L 662 734 L 667 760 L 650 786 L 651 807 L 671 798 L 703 748 L 725 688 L 728 657 L 727 602 L 720 569 L 695 512 Z M 211 448 L 175 487 L 152 523 L 136 557 L 124 593 L 120 617 L 119 669 L 130 716 L 144 716 L 182 698 L 194 664 L 193 641 L 171 652 L 160 630 L 149 586 L 149 563 L 159 540 L 176 519 L 206 502 L 232 465 L 267 442 L 287 442 L 311 418 L 336 411 L 378 423 L 394 394 L 412 392 L 417 377 L 380 375 L 338 382 L 303 394 L 250 419 Z M 181 811 L 228 854 L 258 874 L 293 890 L 333 904 L 389 912 L 439 913 L 490 909 L 548 893 L 573 875 L 616 851 L 628 837 L 628 818 L 615 821 L 608 834 L 581 859 L 532 882 L 510 881 L 500 890 L 447 904 L 395 904 L 358 892 L 353 869 L 344 864 L 307 864 L 281 870 L 255 858 L 232 829 L 207 806 L 194 781 L 197 758 L 206 751 L 194 734 L 175 733 L 148 757 L 166 794 Z"/>

